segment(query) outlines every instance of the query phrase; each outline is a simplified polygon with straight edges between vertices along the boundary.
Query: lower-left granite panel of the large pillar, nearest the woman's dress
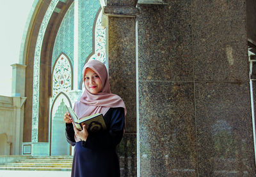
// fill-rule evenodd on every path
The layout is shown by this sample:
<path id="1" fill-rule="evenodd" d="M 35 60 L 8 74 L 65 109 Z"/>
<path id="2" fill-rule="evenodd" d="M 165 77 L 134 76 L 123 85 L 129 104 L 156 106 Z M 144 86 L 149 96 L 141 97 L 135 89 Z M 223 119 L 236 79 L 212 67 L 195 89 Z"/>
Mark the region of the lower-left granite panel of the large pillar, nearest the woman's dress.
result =
<path id="1" fill-rule="evenodd" d="M 140 81 L 140 176 L 195 176 L 192 82 Z"/>

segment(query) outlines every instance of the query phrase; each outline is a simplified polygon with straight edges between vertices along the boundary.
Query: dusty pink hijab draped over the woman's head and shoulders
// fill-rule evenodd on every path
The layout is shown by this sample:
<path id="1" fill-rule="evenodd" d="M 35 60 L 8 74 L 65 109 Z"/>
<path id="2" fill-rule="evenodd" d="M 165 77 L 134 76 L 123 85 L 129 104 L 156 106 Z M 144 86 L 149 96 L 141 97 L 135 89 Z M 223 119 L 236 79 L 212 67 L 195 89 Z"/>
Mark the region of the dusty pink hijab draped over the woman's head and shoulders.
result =
<path id="1" fill-rule="evenodd" d="M 126 115 L 124 101 L 121 99 L 121 97 L 111 94 L 106 66 L 99 60 L 91 60 L 90 62 L 87 62 L 83 68 L 83 79 L 85 70 L 88 67 L 98 74 L 100 80 L 102 81 L 103 88 L 102 92 L 91 94 L 85 87 L 80 100 L 74 105 L 74 111 L 76 112 L 78 118 L 93 115 L 95 113 L 102 113 L 105 115 L 109 108 L 118 107 L 124 108 L 124 113 Z"/>

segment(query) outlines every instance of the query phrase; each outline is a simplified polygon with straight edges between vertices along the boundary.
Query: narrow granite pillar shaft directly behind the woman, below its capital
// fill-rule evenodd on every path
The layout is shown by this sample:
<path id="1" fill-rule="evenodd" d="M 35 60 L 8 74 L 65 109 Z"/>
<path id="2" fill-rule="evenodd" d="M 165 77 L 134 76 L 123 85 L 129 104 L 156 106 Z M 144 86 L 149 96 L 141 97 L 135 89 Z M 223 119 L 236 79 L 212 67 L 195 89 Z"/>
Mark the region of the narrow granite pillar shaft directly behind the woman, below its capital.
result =
<path id="1" fill-rule="evenodd" d="M 134 18 L 109 17 L 109 83 L 127 108 L 126 131 L 136 132 L 136 57 Z"/>

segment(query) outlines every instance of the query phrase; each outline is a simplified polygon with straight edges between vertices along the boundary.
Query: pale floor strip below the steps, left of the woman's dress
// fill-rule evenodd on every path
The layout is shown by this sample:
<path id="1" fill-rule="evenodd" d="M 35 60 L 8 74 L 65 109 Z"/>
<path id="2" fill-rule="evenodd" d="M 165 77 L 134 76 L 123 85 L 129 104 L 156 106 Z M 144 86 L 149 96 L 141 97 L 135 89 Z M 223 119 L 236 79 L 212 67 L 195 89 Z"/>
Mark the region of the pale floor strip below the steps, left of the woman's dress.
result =
<path id="1" fill-rule="evenodd" d="M 71 171 L 14 171 L 0 170 L 0 177 L 70 177 Z"/>

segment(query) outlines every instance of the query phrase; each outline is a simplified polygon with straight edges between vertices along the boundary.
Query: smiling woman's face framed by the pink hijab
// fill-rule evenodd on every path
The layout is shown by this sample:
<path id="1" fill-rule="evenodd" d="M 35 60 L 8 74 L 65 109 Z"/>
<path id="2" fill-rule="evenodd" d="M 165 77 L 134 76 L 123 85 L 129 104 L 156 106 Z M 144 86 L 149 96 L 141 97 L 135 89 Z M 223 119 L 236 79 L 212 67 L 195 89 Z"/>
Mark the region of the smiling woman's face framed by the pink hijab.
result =
<path id="1" fill-rule="evenodd" d="M 97 94 L 102 91 L 102 81 L 95 71 L 86 68 L 84 75 L 84 85 L 91 94 Z"/>

